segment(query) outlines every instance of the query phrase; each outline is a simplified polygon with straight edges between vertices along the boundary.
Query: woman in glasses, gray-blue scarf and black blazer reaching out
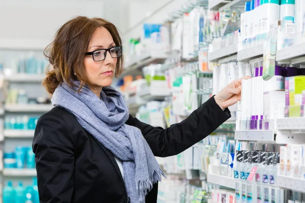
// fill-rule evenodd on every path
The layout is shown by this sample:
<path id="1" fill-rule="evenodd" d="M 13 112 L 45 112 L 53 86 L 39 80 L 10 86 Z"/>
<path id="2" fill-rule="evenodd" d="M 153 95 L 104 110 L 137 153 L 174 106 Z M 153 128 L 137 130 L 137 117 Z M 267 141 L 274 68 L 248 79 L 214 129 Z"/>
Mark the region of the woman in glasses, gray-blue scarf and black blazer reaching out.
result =
<path id="1" fill-rule="evenodd" d="M 33 141 L 40 202 L 156 202 L 164 176 L 155 156 L 178 154 L 230 117 L 240 80 L 167 129 L 128 113 L 110 87 L 123 67 L 116 27 L 76 17 L 56 32 L 46 56 L 54 70 L 43 85 L 53 94 Z"/>

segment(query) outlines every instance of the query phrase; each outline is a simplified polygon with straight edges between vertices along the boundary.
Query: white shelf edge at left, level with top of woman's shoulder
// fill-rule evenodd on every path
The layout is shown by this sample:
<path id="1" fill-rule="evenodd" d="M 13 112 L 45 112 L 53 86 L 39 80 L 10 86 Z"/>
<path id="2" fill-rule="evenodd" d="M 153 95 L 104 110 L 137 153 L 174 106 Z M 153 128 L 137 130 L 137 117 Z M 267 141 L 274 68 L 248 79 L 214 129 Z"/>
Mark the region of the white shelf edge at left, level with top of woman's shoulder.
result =
<path id="1" fill-rule="evenodd" d="M 48 112 L 53 108 L 52 105 L 31 105 L 31 104 L 24 104 L 24 105 L 6 105 L 5 111 L 8 112 Z"/>

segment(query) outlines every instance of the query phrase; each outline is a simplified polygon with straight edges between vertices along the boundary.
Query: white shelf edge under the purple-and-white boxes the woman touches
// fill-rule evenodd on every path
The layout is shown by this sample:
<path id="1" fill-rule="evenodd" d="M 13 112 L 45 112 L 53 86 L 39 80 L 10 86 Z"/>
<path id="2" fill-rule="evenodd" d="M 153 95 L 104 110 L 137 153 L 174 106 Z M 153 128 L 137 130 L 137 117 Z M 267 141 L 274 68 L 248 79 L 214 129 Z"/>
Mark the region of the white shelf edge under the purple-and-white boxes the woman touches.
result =
<path id="1" fill-rule="evenodd" d="M 235 140 L 275 142 L 275 132 L 273 130 L 236 130 Z"/>

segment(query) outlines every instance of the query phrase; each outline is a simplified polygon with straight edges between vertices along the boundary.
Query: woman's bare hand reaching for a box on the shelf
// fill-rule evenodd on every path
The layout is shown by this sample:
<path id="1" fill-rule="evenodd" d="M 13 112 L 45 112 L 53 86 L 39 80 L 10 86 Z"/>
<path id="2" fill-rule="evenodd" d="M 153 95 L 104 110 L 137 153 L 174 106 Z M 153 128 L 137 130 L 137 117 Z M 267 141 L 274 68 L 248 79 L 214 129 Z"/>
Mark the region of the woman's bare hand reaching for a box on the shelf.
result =
<path id="1" fill-rule="evenodd" d="M 215 95 L 215 101 L 221 109 L 225 109 L 237 103 L 240 100 L 241 93 L 241 80 L 250 79 L 250 76 L 242 77 L 238 80 L 234 80 L 218 94 Z"/>

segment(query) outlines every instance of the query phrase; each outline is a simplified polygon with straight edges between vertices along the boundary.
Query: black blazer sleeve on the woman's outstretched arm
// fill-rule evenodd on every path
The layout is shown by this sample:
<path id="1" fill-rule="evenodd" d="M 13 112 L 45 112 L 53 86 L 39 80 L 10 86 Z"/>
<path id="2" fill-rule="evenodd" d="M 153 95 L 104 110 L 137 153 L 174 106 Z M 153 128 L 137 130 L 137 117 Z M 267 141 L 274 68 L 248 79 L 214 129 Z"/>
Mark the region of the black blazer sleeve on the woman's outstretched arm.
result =
<path id="1" fill-rule="evenodd" d="M 198 143 L 230 117 L 229 109 L 223 111 L 213 96 L 187 119 L 166 129 L 145 124 L 131 115 L 126 124 L 142 131 L 155 156 L 167 157 L 179 154 Z"/>

